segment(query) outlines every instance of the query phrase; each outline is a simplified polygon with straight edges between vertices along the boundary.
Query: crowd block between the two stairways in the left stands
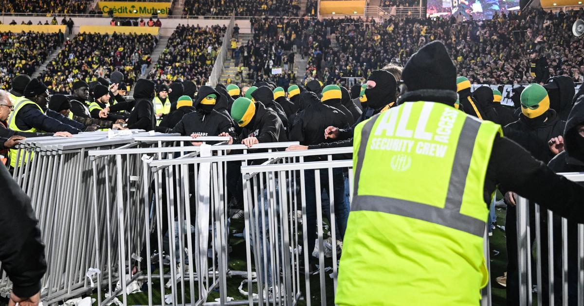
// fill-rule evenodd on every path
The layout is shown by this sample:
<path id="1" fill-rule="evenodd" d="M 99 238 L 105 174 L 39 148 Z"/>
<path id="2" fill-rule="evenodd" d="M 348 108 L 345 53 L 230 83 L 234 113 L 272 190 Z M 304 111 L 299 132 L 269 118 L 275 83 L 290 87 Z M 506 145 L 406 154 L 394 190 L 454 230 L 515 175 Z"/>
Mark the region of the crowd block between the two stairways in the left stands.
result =
<path id="1" fill-rule="evenodd" d="M 123 71 L 126 84 L 132 86 L 150 65 L 150 54 L 157 43 L 151 34 L 79 33 L 40 75 L 53 93 L 71 93 L 75 80 L 92 82 L 108 78 L 113 71 Z"/>

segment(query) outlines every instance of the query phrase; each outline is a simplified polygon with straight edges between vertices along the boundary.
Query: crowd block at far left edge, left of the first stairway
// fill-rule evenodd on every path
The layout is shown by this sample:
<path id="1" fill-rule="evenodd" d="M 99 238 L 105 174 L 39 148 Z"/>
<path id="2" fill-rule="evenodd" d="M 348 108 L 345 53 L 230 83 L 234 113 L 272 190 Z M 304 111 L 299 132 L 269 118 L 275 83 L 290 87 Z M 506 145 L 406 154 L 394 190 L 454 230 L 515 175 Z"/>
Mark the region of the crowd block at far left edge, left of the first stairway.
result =
<path id="1" fill-rule="evenodd" d="M 16 75 L 32 75 L 61 39 L 57 33 L 0 33 L 0 89 L 10 89 Z"/>

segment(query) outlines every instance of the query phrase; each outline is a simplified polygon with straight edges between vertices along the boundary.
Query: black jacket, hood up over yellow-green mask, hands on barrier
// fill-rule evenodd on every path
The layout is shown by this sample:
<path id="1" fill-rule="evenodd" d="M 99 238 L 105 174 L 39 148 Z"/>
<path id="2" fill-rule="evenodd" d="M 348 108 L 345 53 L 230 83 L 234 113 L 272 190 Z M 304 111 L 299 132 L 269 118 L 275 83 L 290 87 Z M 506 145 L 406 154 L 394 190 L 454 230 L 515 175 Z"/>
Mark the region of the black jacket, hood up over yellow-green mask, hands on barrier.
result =
<path id="1" fill-rule="evenodd" d="M 183 116 L 182 120 L 173 128 L 173 133 L 180 133 L 183 136 L 191 134 L 199 134 L 201 136 L 218 136 L 220 133 L 227 132 L 233 136 L 234 127 L 230 118 L 225 117 L 215 108 L 211 111 L 203 110 L 200 103 L 205 97 L 210 94 L 217 95 L 217 101 L 220 100 L 220 93 L 215 91 L 211 86 L 201 86 L 195 100 L 193 107 L 195 111 Z"/>

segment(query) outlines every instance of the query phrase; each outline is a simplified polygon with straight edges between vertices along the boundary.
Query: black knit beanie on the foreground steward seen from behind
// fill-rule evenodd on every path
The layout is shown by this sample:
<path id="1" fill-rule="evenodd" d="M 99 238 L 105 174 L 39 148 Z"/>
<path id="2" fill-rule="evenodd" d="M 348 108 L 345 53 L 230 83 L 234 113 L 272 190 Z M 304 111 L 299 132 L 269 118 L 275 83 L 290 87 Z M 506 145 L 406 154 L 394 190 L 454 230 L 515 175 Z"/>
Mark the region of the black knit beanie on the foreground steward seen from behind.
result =
<path id="1" fill-rule="evenodd" d="M 405 64 L 402 79 L 410 92 L 420 89 L 456 92 L 456 67 L 440 41 L 432 41 L 414 53 Z"/>

